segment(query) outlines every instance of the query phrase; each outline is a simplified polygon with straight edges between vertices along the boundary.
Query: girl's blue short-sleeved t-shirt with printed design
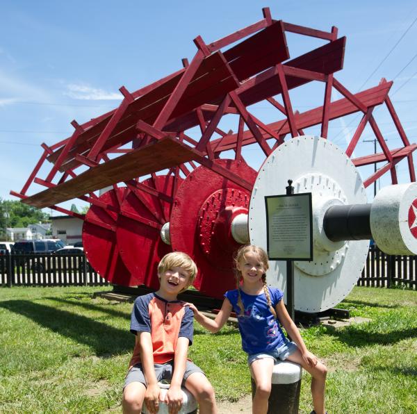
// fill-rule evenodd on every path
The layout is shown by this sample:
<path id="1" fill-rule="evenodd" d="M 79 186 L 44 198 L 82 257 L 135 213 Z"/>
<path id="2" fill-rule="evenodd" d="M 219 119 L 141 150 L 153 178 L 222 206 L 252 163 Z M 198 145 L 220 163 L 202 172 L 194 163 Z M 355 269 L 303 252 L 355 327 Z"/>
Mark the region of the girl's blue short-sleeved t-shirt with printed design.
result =
<path id="1" fill-rule="evenodd" d="M 268 290 L 272 306 L 275 308 L 284 294 L 277 288 L 268 287 Z M 272 352 L 288 342 L 281 326 L 279 326 L 279 321 L 270 311 L 265 292 L 262 292 L 261 295 L 247 295 L 243 290 L 240 290 L 244 307 L 241 316 L 239 316 L 238 290 L 228 290 L 224 297 L 230 301 L 234 312 L 238 315 L 242 348 L 247 354 Z"/>

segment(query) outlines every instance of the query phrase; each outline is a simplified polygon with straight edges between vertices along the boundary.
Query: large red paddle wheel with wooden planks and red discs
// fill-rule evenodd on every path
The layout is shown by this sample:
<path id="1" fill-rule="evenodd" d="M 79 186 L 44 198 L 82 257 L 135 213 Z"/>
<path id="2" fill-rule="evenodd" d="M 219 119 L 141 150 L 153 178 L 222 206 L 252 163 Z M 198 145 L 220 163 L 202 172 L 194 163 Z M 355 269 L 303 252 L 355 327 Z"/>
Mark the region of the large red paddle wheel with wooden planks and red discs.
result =
<path id="1" fill-rule="evenodd" d="M 288 32 L 323 44 L 290 56 Z M 120 88 L 124 99 L 118 108 L 85 124 L 73 121 L 70 138 L 51 147 L 42 144 L 44 153 L 24 188 L 11 192 L 32 206 L 70 215 L 76 214 L 56 204 L 76 197 L 90 202 L 88 214 L 77 216 L 85 220 L 88 260 L 107 280 L 156 287 L 158 260 L 178 249 L 197 262 L 195 286 L 222 297 L 234 285 L 232 254 L 243 242 L 231 234 L 231 224 L 247 212 L 256 190 L 256 171 L 242 155 L 248 145 L 265 159 L 286 138 L 304 135 L 311 126 L 320 126 L 320 135 L 332 140 L 329 122 L 359 113 L 346 154 L 352 156 L 370 125 L 381 152 L 352 161 L 357 167 L 384 163 L 365 186 L 386 172 L 397 183 L 395 165 L 404 159 L 410 181 L 416 180 L 416 144 L 409 143 L 389 99 L 392 82 L 383 79 L 368 90 L 349 92 L 335 76 L 345 51 L 345 37 L 338 38 L 336 28 L 325 32 L 276 21 L 265 8 L 263 19 L 251 26 L 211 44 L 200 37 L 194 42 L 197 53 L 190 63 L 183 60 L 183 69 L 136 92 Z M 322 106 L 298 113 L 289 92 L 311 82 L 323 83 Z M 332 101 L 333 89 L 343 97 Z M 259 102 L 277 110 L 277 121 L 268 124 L 251 113 L 250 106 Z M 400 135 L 400 148 L 387 147 L 373 116 L 382 104 Z M 229 122 L 231 130 L 223 131 L 221 122 Z M 190 138 L 195 126 L 198 139 Z M 40 179 L 45 160 L 52 168 Z M 79 172 L 82 166 L 88 168 Z M 47 189 L 26 195 L 33 182 Z M 97 190 L 110 185 L 113 190 L 97 197 Z"/>

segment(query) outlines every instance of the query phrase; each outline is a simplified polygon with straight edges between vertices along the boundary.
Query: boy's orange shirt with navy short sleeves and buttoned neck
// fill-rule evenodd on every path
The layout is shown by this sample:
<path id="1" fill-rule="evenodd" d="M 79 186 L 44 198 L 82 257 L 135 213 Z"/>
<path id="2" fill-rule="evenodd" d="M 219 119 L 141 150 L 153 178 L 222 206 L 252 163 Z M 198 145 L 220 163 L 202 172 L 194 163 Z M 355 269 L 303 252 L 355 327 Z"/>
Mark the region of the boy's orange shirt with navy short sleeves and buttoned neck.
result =
<path id="1" fill-rule="evenodd" d="M 151 333 L 154 363 L 163 364 L 174 359 L 180 336 L 193 343 L 194 313 L 183 301 L 166 301 L 155 293 L 137 297 L 131 314 L 131 333 Z M 136 342 L 129 367 L 140 362 L 139 344 Z"/>

